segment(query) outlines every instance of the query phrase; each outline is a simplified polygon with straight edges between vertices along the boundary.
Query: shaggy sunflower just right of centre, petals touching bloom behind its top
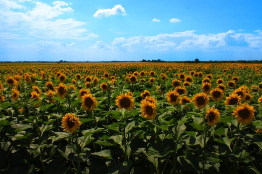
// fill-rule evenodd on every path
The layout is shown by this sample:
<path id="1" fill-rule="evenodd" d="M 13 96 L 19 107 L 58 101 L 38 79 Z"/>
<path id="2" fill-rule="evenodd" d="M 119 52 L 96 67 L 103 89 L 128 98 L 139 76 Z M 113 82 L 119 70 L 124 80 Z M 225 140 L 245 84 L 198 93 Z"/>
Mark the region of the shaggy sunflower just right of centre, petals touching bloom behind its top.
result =
<path id="1" fill-rule="evenodd" d="M 154 119 L 156 115 L 156 103 L 146 101 L 141 103 L 141 112 L 143 117 L 148 119 Z"/>

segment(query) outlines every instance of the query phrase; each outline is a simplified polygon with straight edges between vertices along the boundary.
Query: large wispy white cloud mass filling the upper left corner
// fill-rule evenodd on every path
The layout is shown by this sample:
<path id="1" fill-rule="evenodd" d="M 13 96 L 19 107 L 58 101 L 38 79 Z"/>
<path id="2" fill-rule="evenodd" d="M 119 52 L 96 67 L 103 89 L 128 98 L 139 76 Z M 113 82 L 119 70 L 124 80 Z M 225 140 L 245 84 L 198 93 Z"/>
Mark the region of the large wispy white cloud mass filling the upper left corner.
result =
<path id="1" fill-rule="evenodd" d="M 64 1 L 53 1 L 52 5 L 40 1 L 27 2 L 32 8 L 23 6 L 29 0 L 0 1 L 0 32 L 16 33 L 20 37 L 38 39 L 88 39 L 86 23 L 73 18 L 58 18 L 73 9 Z M 15 39 L 12 35 L 5 39 Z"/>

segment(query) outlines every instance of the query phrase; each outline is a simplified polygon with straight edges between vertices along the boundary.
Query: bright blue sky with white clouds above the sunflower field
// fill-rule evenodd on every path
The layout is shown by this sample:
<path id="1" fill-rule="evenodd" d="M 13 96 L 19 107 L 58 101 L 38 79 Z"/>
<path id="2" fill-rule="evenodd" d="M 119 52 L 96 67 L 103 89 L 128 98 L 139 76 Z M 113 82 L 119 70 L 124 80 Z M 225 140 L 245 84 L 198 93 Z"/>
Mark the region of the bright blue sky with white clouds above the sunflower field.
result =
<path id="1" fill-rule="evenodd" d="M 262 60 L 261 0 L 0 0 L 0 61 Z"/>

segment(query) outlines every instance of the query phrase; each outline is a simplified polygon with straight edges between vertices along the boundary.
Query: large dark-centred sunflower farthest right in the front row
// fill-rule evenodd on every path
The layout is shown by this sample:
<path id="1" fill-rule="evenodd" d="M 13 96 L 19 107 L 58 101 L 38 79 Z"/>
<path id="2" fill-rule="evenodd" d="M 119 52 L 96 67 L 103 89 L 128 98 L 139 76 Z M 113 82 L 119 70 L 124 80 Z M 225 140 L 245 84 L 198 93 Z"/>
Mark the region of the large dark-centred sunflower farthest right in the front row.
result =
<path id="1" fill-rule="evenodd" d="M 239 105 L 233 112 L 239 123 L 250 124 L 255 119 L 255 109 L 248 103 Z"/>

